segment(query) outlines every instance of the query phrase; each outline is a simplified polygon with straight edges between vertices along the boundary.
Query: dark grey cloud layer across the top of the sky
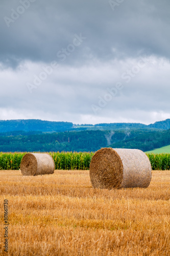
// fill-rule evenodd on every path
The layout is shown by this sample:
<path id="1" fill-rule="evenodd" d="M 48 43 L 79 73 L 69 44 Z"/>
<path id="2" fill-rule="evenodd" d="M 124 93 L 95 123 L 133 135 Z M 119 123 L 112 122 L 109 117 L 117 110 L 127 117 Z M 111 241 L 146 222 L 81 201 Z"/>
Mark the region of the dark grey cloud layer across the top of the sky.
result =
<path id="1" fill-rule="evenodd" d="M 11 17 L 11 9 L 16 11 L 20 5 L 16 0 L 1 2 L 0 53 L 5 63 L 52 61 L 75 33 L 82 33 L 87 40 L 64 64 L 82 65 L 90 58 L 107 61 L 141 53 L 169 58 L 168 0 L 161 4 L 155 0 L 124 1 L 114 11 L 105 0 L 36 0 L 8 28 L 4 17 Z"/>

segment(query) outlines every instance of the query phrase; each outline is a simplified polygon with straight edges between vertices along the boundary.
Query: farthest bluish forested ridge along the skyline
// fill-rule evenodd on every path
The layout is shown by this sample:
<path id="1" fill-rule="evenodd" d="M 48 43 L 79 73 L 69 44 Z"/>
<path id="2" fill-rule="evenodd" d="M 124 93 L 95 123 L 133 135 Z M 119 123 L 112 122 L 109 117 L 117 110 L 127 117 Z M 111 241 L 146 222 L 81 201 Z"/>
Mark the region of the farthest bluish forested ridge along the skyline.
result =
<path id="1" fill-rule="evenodd" d="M 99 123 L 99 124 L 73 124 L 72 122 L 52 122 L 38 119 L 28 120 L 0 120 L 0 133 L 14 131 L 23 132 L 65 132 L 84 130 L 168 130 L 170 129 L 170 119 L 156 122 L 154 124 L 142 123 Z"/>

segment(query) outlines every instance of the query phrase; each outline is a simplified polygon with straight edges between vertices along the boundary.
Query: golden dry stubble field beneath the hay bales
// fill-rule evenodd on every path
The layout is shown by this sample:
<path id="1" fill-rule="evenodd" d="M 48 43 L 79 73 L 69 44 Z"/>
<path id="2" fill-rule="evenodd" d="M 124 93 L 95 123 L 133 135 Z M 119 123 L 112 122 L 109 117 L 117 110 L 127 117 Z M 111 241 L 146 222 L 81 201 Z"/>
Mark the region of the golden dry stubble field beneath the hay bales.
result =
<path id="1" fill-rule="evenodd" d="M 169 185 L 170 171 L 153 171 L 148 188 L 107 190 L 92 188 L 88 170 L 36 177 L 2 170 L 8 255 L 169 255 Z M 7 254 L 3 232 L 0 255 Z"/>

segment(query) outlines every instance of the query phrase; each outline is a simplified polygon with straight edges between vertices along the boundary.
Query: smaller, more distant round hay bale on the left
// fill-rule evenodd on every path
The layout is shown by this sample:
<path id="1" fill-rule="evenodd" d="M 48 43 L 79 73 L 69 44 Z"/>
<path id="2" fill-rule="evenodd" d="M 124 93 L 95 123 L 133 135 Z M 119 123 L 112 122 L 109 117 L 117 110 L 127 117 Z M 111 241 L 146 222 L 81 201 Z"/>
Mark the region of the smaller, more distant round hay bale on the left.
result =
<path id="1" fill-rule="evenodd" d="M 49 154 L 28 153 L 21 160 L 20 170 L 27 176 L 53 174 L 55 163 Z"/>

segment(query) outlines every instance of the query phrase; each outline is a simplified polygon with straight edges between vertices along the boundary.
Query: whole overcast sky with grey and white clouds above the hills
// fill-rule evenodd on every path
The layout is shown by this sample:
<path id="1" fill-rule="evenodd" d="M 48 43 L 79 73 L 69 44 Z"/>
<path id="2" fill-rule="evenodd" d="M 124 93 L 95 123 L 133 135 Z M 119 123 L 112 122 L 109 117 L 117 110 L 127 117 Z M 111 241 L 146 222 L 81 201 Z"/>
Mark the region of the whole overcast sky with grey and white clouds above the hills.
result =
<path id="1" fill-rule="evenodd" d="M 170 118 L 169 0 L 1 0 L 0 119 Z"/>

